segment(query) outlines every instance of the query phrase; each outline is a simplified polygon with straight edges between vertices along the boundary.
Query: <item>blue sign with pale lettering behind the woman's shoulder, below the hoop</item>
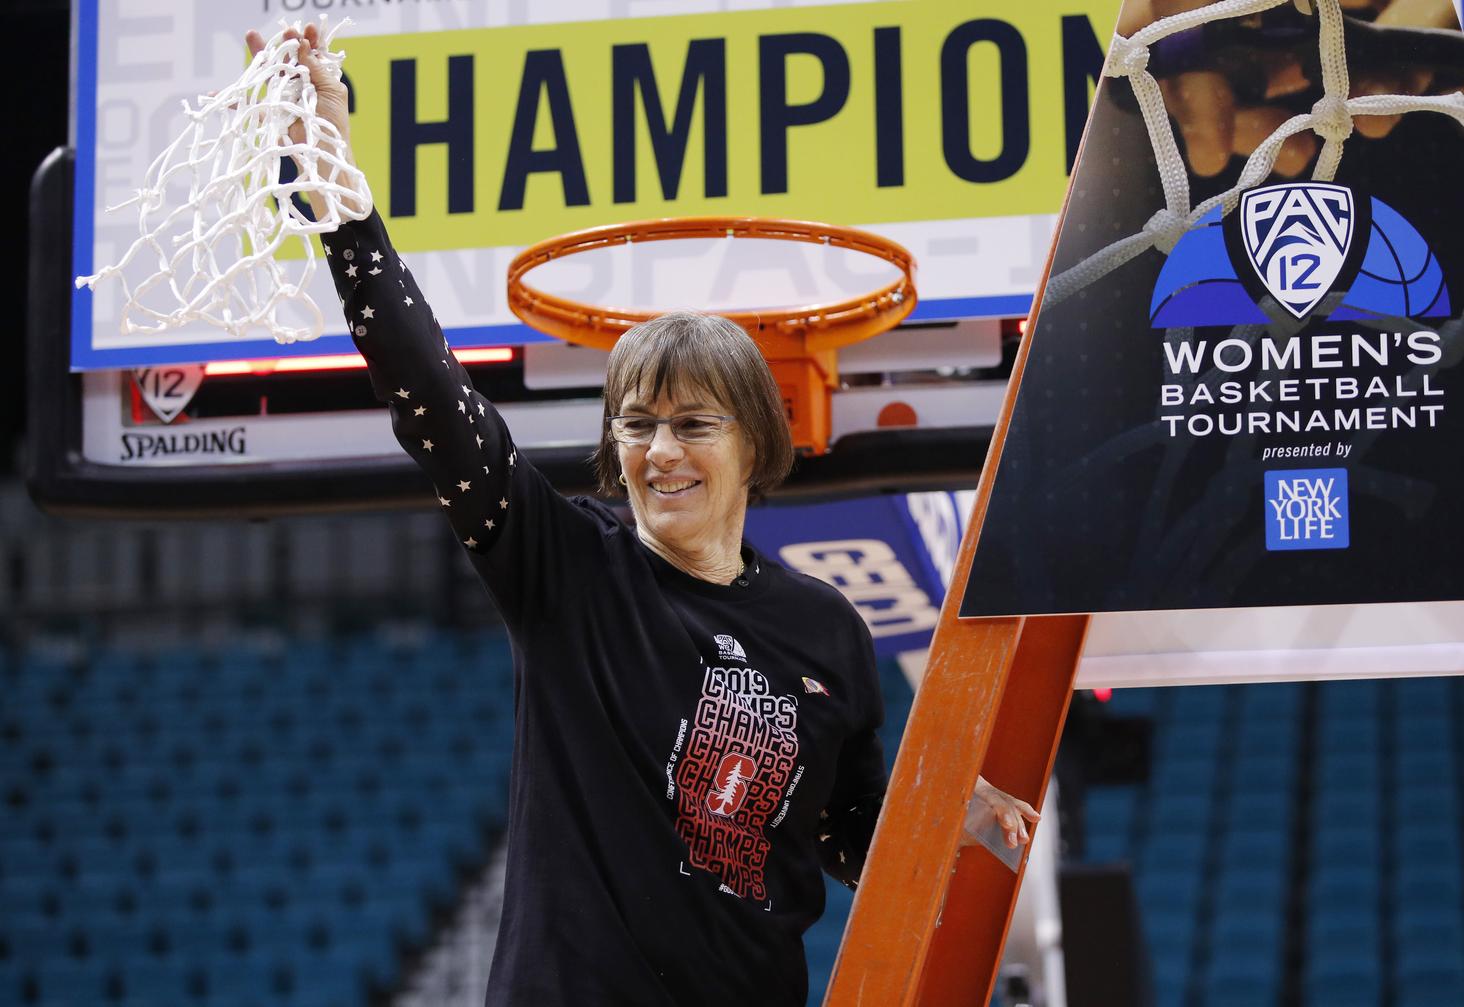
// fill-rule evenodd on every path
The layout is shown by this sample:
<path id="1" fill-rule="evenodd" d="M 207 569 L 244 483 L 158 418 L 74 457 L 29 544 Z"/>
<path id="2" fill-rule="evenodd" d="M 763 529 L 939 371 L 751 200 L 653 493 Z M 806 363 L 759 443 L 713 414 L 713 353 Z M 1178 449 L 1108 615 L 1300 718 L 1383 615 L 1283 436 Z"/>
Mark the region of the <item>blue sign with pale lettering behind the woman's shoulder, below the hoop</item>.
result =
<path id="1" fill-rule="evenodd" d="M 760 506 L 747 512 L 745 534 L 764 556 L 839 588 L 870 626 L 874 651 L 889 657 L 930 647 L 960 546 L 966 496 L 909 493 Z"/>

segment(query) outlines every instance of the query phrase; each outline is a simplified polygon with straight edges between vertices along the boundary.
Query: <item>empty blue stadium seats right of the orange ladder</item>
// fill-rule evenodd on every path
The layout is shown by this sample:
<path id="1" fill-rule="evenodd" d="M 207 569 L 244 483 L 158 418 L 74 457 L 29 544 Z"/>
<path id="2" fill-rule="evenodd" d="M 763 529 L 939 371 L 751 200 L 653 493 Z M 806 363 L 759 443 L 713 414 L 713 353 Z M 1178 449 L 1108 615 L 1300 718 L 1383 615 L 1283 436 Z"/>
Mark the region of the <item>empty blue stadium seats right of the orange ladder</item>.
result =
<path id="1" fill-rule="evenodd" d="M 1151 780 L 1092 787 L 1158 1007 L 1464 1003 L 1455 679 L 1118 689 Z M 1299 821 L 1300 818 L 1300 821 Z"/>

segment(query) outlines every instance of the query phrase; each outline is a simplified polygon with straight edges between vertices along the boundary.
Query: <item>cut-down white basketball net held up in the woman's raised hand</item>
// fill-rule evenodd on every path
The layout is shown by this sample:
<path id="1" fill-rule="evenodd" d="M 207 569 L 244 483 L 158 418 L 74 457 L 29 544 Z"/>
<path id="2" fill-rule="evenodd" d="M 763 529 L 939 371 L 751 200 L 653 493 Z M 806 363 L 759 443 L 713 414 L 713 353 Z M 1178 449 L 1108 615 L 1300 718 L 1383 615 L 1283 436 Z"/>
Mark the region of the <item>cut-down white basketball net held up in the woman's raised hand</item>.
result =
<path id="1" fill-rule="evenodd" d="M 322 48 L 344 20 L 326 34 L 321 19 Z M 300 25 L 296 25 L 299 29 Z M 126 304 L 123 334 L 158 334 L 202 321 L 230 335 L 243 337 L 262 326 L 278 342 L 313 340 L 324 329 L 321 309 L 306 290 L 315 275 L 310 234 L 334 231 L 370 214 L 366 176 L 341 157 L 341 135 L 316 116 L 310 70 L 296 61 L 299 40 L 284 41 L 281 29 L 249 63 L 234 83 L 214 97 L 199 97 L 193 110 L 183 102 L 189 126 L 143 177 L 138 195 L 117 206 L 138 206 L 142 237 L 117 265 L 76 285 L 95 288 L 117 277 Z M 340 79 L 344 53 L 322 53 L 321 61 Z M 305 142 L 290 141 L 290 126 L 305 126 Z M 280 162 L 300 164 L 294 181 L 280 181 Z M 187 202 L 170 206 L 168 187 L 187 183 Z M 291 201 L 296 193 L 324 196 L 321 220 L 305 217 Z M 299 282 L 290 282 L 274 255 L 290 239 L 305 246 Z M 157 271 L 136 284 L 123 271 L 133 262 L 152 261 Z M 297 302 L 310 325 L 296 328 L 278 316 L 281 304 Z"/>

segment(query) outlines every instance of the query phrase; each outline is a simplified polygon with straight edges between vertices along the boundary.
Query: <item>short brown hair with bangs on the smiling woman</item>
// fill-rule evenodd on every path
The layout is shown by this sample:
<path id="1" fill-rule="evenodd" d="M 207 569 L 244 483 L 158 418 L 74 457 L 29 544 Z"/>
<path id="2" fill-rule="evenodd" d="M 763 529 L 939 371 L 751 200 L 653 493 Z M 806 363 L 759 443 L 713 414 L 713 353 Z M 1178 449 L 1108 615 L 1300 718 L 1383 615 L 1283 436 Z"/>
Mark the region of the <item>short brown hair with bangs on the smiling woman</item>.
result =
<path id="1" fill-rule="evenodd" d="M 651 400 L 662 392 L 706 391 L 736 414 L 741 436 L 752 449 L 748 499 L 776 487 L 793 467 L 783 397 L 752 337 L 720 315 L 669 312 L 630 329 L 610 351 L 605 376 L 606 423 L 594 452 L 602 492 L 622 492 L 609 417 L 619 413 L 627 395 L 640 389 L 649 389 Z"/>

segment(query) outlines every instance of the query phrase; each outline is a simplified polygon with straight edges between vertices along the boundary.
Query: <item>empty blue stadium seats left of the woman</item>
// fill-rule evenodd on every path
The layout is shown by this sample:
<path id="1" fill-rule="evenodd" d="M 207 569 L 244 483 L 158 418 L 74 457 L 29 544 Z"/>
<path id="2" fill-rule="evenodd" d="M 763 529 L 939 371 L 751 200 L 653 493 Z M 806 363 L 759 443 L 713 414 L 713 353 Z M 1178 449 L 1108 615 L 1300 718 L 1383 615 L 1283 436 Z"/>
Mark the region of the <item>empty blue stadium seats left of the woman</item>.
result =
<path id="1" fill-rule="evenodd" d="M 0 1004 L 365 1004 L 504 824 L 502 637 L 0 682 Z"/>

